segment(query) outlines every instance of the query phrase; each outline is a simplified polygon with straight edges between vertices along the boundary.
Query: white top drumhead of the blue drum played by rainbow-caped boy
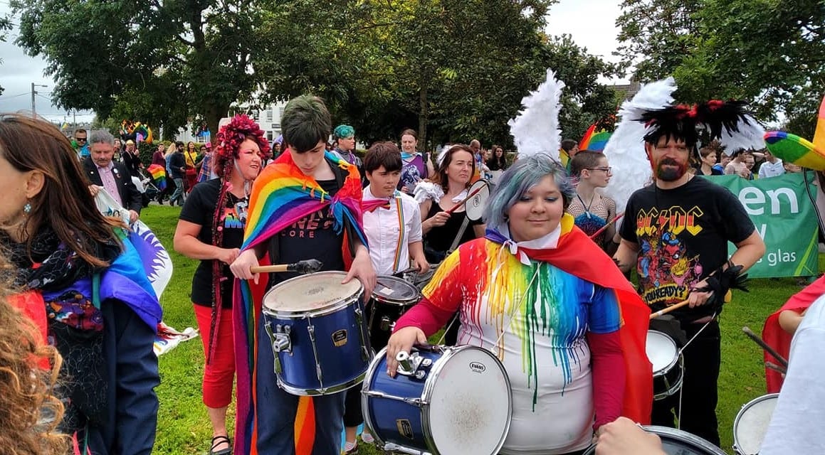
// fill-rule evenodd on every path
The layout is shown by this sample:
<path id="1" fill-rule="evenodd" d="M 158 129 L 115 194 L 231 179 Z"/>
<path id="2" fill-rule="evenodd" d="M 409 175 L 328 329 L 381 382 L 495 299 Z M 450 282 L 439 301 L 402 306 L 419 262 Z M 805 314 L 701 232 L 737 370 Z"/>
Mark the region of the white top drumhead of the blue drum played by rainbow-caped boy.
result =
<path id="1" fill-rule="evenodd" d="M 352 279 L 341 284 L 344 272 L 318 272 L 287 279 L 276 284 L 263 297 L 263 306 L 276 312 L 309 312 L 341 303 L 361 290 Z"/>

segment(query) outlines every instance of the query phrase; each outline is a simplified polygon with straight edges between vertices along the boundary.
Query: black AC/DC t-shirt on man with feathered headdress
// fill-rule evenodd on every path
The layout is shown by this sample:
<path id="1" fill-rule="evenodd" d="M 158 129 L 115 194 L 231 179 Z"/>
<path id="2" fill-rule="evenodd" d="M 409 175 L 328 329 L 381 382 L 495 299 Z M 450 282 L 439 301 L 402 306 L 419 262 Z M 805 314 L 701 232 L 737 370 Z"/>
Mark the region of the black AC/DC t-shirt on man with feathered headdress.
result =
<path id="1" fill-rule="evenodd" d="M 756 228 L 727 188 L 693 177 L 672 190 L 647 186 L 630 196 L 620 235 L 639 245 L 639 293 L 655 312 L 685 300 L 691 285 L 728 260 L 728 242 Z M 713 312 L 707 305 L 671 312 L 694 321 Z"/>

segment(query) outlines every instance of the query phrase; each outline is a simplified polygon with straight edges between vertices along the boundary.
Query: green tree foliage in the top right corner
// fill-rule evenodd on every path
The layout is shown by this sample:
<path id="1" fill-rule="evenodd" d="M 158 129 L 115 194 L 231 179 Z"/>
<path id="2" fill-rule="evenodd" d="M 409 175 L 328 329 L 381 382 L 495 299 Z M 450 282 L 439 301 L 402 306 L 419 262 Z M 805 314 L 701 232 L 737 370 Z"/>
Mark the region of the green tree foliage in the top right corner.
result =
<path id="1" fill-rule="evenodd" d="M 751 101 L 762 120 L 784 112 L 804 122 L 817 109 L 817 101 L 804 106 L 825 87 L 825 1 L 625 0 L 622 7 L 618 54 L 636 63 L 635 77 L 673 75 L 681 101 Z"/>

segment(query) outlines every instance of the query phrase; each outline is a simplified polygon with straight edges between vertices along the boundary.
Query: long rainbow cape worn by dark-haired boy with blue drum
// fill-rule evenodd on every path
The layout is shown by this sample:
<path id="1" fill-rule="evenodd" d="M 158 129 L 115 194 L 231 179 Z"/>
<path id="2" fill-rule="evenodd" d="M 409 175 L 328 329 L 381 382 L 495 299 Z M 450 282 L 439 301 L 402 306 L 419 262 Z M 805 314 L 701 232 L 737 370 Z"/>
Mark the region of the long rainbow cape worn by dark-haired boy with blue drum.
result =
<path id="1" fill-rule="evenodd" d="M 252 185 L 242 251 L 261 245 L 310 213 L 332 206 L 334 228 L 343 235 L 344 262 L 347 269 L 350 267 L 354 251 L 350 250 L 348 236 L 356 235 L 363 245 L 367 244 L 361 223 L 361 176 L 355 166 L 341 157 L 330 152 L 326 152 L 324 157 L 326 162 L 339 167 L 346 175 L 342 187 L 334 196 L 324 191 L 313 177 L 304 176 L 292 161 L 291 152 L 282 153 L 275 162 L 264 168 Z M 258 285 L 235 280 L 232 312 L 238 382 L 235 388 L 237 413 L 234 453 L 238 455 L 257 454 L 255 364 L 257 326 L 266 290 L 265 282 L 266 277 Z M 274 376 L 271 372 L 266 374 Z M 267 380 L 274 381 L 275 378 Z M 302 396 L 295 418 L 295 453 L 311 452 L 314 432 L 313 401 L 310 397 Z"/>

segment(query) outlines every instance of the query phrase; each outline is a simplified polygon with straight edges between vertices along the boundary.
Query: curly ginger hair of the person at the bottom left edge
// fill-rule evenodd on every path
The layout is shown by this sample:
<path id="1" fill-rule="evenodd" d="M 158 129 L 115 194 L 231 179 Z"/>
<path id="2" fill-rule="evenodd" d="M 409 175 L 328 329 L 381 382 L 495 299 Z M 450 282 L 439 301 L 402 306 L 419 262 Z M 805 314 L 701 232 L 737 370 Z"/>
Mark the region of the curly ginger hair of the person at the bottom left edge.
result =
<path id="1" fill-rule="evenodd" d="M 0 259 L 0 268 L 12 268 Z M 67 452 L 68 439 L 55 431 L 63 405 L 52 395 L 60 356 L 45 345 L 43 335 L 26 310 L 26 295 L 8 295 L 12 278 L 0 278 L 0 445 L 15 455 L 58 455 Z M 45 310 L 45 308 L 43 308 Z M 45 323 L 45 321 L 43 321 Z M 33 362 L 36 360 L 37 362 Z"/>

